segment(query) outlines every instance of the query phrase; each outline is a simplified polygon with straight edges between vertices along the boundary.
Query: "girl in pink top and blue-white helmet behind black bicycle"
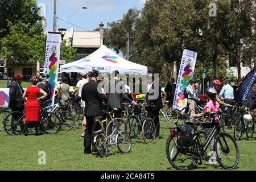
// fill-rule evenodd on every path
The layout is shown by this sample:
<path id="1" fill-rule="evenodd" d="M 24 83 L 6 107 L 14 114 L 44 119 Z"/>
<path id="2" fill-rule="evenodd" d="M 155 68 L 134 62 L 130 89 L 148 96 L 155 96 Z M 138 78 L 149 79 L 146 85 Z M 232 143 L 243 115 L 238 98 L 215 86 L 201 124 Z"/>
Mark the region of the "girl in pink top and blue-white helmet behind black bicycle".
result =
<path id="1" fill-rule="evenodd" d="M 205 90 L 205 92 L 207 93 L 207 104 L 204 106 L 204 111 L 208 112 L 208 113 L 214 113 L 217 112 L 218 109 L 220 109 L 220 105 L 218 104 L 217 100 L 216 100 L 216 95 L 217 95 L 217 91 L 212 88 L 209 87 Z M 201 114 L 193 114 L 192 117 L 203 117 L 203 113 Z M 205 127 L 205 134 L 207 135 L 207 137 L 210 135 L 210 133 L 212 132 L 213 127 L 216 125 L 216 123 L 214 122 L 218 122 L 218 117 L 214 116 L 214 118 L 210 118 L 207 117 L 205 119 L 204 122 L 204 127 Z M 207 162 L 211 163 L 216 163 L 216 152 L 214 152 L 213 150 L 213 144 L 214 144 L 214 139 L 212 139 L 210 141 L 210 152 L 211 155 L 210 158 L 207 160 Z M 219 151 L 219 148 L 217 149 Z M 220 154 L 220 152 L 218 152 L 218 154 Z"/>

